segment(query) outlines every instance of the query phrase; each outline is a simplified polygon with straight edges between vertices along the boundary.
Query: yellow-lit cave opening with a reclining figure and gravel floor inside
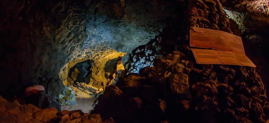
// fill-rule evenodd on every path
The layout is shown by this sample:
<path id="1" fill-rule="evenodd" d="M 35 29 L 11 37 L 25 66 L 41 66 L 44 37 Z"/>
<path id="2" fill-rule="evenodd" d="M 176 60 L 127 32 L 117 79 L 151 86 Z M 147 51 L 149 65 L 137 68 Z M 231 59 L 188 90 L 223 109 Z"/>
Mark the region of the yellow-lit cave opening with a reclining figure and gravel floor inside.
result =
<path id="1" fill-rule="evenodd" d="M 85 113 L 93 110 L 96 98 L 103 94 L 106 86 L 116 84 L 124 71 L 122 57 L 125 54 L 112 52 L 99 60 L 87 59 L 74 64 L 68 70 L 63 80 L 64 90 L 57 98 L 61 109 Z"/>

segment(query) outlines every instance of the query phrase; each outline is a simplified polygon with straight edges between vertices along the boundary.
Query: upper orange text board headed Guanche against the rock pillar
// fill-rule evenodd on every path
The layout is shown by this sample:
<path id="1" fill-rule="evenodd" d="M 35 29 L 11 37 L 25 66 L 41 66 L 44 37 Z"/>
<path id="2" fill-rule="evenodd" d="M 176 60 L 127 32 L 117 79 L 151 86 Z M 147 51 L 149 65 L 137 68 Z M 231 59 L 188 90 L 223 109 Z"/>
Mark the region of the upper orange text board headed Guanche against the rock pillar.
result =
<path id="1" fill-rule="evenodd" d="M 245 55 L 241 37 L 213 29 L 193 27 L 193 30 L 190 30 L 190 46 Z"/>

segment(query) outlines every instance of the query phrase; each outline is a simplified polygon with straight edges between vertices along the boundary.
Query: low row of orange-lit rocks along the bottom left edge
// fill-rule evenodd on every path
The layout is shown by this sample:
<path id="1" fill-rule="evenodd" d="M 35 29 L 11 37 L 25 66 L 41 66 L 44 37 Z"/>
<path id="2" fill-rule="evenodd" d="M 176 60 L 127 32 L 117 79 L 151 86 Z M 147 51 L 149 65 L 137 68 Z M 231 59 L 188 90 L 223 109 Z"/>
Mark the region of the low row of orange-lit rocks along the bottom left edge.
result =
<path id="1" fill-rule="evenodd" d="M 81 110 L 58 112 L 56 108 L 40 109 L 32 104 L 21 105 L 17 100 L 9 103 L 2 96 L 0 96 L 0 107 L 1 123 L 115 123 L 112 118 L 102 120 L 100 114 L 83 113 Z"/>

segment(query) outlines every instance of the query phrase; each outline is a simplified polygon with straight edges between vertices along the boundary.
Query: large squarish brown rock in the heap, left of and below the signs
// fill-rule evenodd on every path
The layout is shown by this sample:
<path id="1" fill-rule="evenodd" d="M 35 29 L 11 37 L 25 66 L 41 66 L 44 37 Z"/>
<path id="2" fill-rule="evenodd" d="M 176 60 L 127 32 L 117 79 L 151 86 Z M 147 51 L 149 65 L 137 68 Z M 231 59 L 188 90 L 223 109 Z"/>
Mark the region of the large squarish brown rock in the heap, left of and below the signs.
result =
<path id="1" fill-rule="evenodd" d="M 187 94 L 189 91 L 188 76 L 186 74 L 172 74 L 169 77 L 169 84 L 173 94 Z"/>

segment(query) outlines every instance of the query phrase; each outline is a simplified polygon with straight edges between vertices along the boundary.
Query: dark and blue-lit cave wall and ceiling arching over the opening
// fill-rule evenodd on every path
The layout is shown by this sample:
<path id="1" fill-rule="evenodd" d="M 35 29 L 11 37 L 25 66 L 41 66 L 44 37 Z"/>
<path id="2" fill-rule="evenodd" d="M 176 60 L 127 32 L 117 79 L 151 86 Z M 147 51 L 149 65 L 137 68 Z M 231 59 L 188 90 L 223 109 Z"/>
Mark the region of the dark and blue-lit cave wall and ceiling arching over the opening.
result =
<path id="1" fill-rule="evenodd" d="M 11 0 L 0 7 L 0 93 L 6 97 L 32 84 L 58 96 L 76 63 L 148 43 L 174 11 L 149 0 Z"/>

